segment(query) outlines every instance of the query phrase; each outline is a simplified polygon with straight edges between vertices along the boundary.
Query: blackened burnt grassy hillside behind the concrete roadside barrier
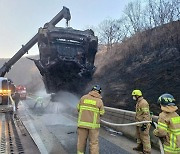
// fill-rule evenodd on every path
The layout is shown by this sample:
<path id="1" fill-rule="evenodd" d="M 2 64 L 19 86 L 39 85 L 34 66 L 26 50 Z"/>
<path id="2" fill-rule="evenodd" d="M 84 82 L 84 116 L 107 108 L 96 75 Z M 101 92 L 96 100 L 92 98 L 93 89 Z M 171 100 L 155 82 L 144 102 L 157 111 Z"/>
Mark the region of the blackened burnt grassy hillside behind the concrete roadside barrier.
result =
<path id="1" fill-rule="evenodd" d="M 96 63 L 89 86 L 102 86 L 108 106 L 134 110 L 131 92 L 136 88 L 142 90 L 152 110 L 166 92 L 180 103 L 180 21 L 136 34 L 111 52 L 100 51 Z"/>

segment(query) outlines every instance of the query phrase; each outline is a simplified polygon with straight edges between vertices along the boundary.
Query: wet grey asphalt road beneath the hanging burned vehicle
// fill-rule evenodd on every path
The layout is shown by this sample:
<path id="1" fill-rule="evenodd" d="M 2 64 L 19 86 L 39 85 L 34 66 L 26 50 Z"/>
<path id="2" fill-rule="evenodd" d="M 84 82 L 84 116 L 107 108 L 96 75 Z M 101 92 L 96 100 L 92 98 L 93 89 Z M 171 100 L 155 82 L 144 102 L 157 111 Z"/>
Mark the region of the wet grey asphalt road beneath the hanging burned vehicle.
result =
<path id="1" fill-rule="evenodd" d="M 77 120 L 73 116 L 74 110 L 70 106 L 50 102 L 37 105 L 28 99 L 19 105 L 18 114 L 35 142 L 43 153 L 76 154 L 77 152 Z M 28 120 L 27 120 L 28 119 Z M 31 125 L 31 126 L 28 126 Z M 87 144 L 88 145 L 88 144 Z M 113 133 L 105 128 L 100 129 L 100 154 L 128 154 L 136 153 L 132 150 L 136 143 L 121 134 Z M 88 152 L 88 146 L 86 153 Z M 153 150 L 153 154 L 159 153 Z"/>

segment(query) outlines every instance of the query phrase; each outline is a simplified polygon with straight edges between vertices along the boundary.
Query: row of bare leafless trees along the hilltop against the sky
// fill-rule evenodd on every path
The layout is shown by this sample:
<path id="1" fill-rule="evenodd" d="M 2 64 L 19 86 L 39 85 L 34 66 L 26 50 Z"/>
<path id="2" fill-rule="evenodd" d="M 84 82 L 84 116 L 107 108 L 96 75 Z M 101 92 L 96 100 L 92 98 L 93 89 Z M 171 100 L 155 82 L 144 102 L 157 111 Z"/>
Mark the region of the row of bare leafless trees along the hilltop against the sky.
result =
<path id="1" fill-rule="evenodd" d="M 106 19 L 97 28 L 99 43 L 110 51 L 114 44 L 122 42 L 134 33 L 151 29 L 180 18 L 179 0 L 141 0 L 130 2 L 124 10 L 125 16 L 118 20 Z"/>

